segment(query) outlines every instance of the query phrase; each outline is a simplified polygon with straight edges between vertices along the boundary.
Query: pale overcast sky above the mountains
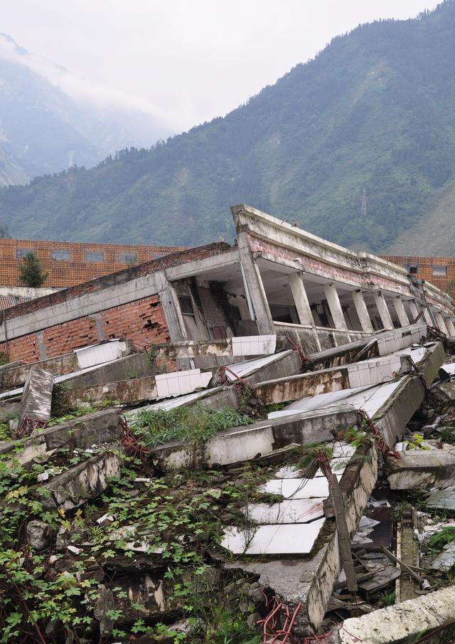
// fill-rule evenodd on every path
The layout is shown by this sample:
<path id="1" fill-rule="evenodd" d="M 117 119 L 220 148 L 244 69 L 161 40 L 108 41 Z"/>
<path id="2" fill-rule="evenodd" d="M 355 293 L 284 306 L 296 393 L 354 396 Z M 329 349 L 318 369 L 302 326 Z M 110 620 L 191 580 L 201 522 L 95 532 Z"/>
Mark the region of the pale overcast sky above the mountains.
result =
<path id="1" fill-rule="evenodd" d="M 0 31 L 67 68 L 67 91 L 137 106 L 179 132 L 225 115 L 359 23 L 407 19 L 437 4 L 0 0 Z"/>

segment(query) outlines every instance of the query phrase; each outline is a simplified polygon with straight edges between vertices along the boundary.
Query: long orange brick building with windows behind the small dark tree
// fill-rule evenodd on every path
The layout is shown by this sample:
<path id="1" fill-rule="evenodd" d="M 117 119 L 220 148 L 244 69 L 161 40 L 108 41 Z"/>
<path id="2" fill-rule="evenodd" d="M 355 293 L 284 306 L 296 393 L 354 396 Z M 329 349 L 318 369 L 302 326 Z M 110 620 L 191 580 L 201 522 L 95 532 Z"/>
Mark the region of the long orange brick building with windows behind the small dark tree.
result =
<path id="1" fill-rule="evenodd" d="M 184 250 L 181 246 L 127 246 L 0 239 L 0 285 L 21 286 L 19 267 L 27 253 L 35 253 L 45 273 L 44 287 L 61 288 L 116 273 L 131 265 Z"/>

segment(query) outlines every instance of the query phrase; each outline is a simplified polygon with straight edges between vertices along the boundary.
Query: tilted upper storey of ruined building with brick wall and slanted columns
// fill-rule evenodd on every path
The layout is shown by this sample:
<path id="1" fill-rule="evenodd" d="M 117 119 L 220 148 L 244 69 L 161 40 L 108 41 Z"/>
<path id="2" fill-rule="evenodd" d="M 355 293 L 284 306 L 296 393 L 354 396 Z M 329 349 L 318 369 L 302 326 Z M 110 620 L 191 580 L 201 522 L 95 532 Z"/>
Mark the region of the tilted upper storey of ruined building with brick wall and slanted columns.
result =
<path id="1" fill-rule="evenodd" d="M 232 214 L 236 246 L 173 253 L 6 310 L 0 351 L 30 362 L 120 336 L 146 347 L 276 334 L 311 354 L 418 319 L 455 334 L 450 298 L 404 269 L 250 206 Z"/>

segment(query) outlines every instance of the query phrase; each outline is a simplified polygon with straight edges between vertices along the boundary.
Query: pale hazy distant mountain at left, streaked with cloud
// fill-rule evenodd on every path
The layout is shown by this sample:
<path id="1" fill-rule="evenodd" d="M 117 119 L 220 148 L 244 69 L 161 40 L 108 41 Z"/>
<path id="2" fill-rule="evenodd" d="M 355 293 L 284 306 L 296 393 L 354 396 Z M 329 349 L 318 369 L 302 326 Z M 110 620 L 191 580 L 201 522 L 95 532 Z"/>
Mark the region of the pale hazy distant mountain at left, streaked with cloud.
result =
<path id="1" fill-rule="evenodd" d="M 73 164 L 92 167 L 118 149 L 151 144 L 168 134 L 161 129 L 138 139 L 93 105 L 63 92 L 39 73 L 41 68 L 70 80 L 65 69 L 31 56 L 0 34 L 0 185 L 25 184 L 37 174 Z"/>

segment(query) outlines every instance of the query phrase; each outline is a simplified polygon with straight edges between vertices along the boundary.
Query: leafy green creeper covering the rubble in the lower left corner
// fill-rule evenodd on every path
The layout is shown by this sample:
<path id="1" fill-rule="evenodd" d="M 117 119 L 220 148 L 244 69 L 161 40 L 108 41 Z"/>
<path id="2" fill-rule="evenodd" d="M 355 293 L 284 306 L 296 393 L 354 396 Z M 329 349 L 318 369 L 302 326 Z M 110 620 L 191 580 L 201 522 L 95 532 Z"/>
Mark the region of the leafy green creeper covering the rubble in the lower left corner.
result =
<path id="1" fill-rule="evenodd" d="M 223 473 L 204 471 L 139 482 L 137 475 L 140 471 L 144 476 L 144 465 L 127 459 L 119 479 L 111 480 L 100 498 L 65 514 L 44 507 L 49 492 L 45 485 L 37 485 L 37 476 L 50 467 L 57 473 L 64 471 L 73 464 L 68 457 L 68 450 L 61 450 L 45 465 L 34 463 L 29 468 L 18 461 L 11 463 L 11 455 L 0 457 L 4 500 L 0 507 L 0 644 L 101 641 L 94 635 L 94 608 L 100 596 L 97 571 L 103 566 L 110 569 L 117 557 L 135 559 L 138 544 L 146 544 L 141 556 L 161 569 L 164 601 L 172 607 L 166 609 L 170 618 L 179 615 L 190 620 L 190 633 L 176 634 L 176 642 L 259 644 L 260 639 L 247 628 L 254 603 L 248 601 L 246 591 L 242 595 L 237 581 L 232 581 L 231 589 L 225 586 L 218 571 L 208 565 L 205 551 L 218 548 L 223 513 L 229 512 L 232 524 L 245 524 L 239 507 L 249 495 L 255 498 L 264 473 L 245 467 L 230 480 Z M 65 465 L 57 465 L 62 462 Z M 105 513 L 112 522 L 100 527 L 97 518 Z M 46 524 L 54 535 L 59 530 L 63 547 L 55 549 L 51 539 L 48 549 L 31 549 L 25 538 L 31 519 Z M 65 544 L 77 545 L 78 554 L 69 556 Z M 55 564 L 50 564 L 50 554 Z M 114 586 L 112 593 L 116 600 L 127 599 L 120 586 Z M 247 606 L 240 609 L 242 597 Z M 131 603 L 131 608 L 143 614 L 139 604 Z M 107 614 L 114 621 L 116 639 L 169 635 L 165 624 L 124 619 L 118 605 Z"/>

